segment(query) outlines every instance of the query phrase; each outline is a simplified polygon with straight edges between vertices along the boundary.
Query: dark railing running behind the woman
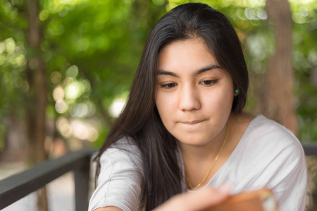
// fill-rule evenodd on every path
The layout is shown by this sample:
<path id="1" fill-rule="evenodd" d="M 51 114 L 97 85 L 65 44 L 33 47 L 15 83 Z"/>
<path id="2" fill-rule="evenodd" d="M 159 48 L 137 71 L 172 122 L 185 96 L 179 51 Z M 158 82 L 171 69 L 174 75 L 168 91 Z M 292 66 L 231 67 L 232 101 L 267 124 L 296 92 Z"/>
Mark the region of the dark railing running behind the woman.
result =
<path id="1" fill-rule="evenodd" d="M 306 155 L 317 155 L 317 143 L 305 143 Z M 30 170 L 0 181 L 0 210 L 15 201 L 37 191 L 50 181 L 61 175 L 74 171 L 75 179 L 75 210 L 88 209 L 89 164 L 96 150 L 82 150 L 68 153 L 62 158 L 42 162 Z"/>

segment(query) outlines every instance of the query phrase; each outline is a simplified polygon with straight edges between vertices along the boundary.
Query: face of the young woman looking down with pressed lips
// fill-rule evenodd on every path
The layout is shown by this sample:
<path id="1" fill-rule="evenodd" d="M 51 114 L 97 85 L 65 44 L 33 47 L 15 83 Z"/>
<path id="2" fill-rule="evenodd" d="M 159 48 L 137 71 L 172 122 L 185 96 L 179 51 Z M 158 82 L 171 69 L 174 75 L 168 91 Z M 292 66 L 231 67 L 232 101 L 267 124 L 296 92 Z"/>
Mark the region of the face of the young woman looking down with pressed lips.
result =
<path id="1" fill-rule="evenodd" d="M 201 146 L 224 129 L 233 89 L 232 79 L 203 39 L 174 41 L 159 53 L 156 107 L 164 126 L 180 143 Z"/>

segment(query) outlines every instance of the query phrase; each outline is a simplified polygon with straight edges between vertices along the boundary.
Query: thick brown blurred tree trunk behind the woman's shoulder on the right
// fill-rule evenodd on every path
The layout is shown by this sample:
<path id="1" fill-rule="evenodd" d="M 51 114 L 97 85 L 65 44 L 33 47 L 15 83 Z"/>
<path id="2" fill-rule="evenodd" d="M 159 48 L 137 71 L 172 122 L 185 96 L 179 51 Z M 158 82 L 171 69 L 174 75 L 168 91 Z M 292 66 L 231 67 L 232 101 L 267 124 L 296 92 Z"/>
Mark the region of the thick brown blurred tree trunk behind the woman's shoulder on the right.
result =
<path id="1" fill-rule="evenodd" d="M 275 30 L 275 53 L 268 60 L 263 113 L 297 135 L 292 67 L 292 17 L 287 0 L 267 1 L 268 20 Z"/>

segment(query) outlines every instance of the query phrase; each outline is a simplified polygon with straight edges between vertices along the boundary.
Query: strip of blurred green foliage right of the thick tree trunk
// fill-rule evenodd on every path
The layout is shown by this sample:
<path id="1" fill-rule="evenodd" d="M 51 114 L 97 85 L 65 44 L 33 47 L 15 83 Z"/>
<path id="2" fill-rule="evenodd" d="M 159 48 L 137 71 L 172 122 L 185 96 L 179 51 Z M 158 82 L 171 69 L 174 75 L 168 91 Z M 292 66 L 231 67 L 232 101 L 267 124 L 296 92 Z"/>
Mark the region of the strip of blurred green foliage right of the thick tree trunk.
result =
<path id="1" fill-rule="evenodd" d="M 317 141 L 317 4 L 294 1 L 291 9 L 299 135 L 302 141 Z"/>

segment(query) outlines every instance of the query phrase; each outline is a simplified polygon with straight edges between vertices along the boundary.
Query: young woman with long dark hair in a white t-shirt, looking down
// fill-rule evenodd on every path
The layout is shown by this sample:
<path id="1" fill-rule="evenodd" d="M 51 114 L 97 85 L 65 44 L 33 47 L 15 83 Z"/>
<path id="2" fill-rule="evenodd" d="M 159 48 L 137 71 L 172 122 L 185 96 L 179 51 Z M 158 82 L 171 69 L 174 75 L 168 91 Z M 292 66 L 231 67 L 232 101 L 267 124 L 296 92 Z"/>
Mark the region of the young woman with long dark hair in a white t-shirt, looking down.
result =
<path id="1" fill-rule="evenodd" d="M 194 210 L 190 198 L 213 205 L 228 196 L 205 188 L 226 182 L 231 193 L 266 186 L 280 210 L 304 210 L 302 146 L 280 124 L 242 113 L 248 83 L 240 41 L 222 13 L 191 3 L 164 15 L 95 158 L 89 210 Z"/>

